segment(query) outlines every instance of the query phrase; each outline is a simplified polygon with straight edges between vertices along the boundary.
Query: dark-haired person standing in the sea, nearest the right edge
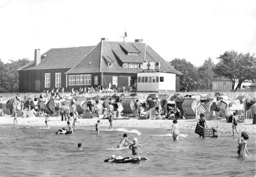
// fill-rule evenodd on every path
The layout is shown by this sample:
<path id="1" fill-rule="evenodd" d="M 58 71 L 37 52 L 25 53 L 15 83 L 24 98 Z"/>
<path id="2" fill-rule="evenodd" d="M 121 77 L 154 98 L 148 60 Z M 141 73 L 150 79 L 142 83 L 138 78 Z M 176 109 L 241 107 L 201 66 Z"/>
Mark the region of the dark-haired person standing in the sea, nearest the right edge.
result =
<path id="1" fill-rule="evenodd" d="M 247 140 L 249 136 L 245 131 L 242 132 L 241 137 L 238 139 L 238 158 L 245 159 L 250 156 L 249 151 L 247 150 Z"/>

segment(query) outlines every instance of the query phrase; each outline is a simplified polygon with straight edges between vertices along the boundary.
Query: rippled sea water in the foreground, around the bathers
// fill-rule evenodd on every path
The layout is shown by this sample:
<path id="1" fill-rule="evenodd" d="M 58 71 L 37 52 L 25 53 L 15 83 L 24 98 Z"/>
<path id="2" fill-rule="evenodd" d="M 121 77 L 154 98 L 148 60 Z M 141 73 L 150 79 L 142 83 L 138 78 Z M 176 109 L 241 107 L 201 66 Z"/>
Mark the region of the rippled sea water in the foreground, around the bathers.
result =
<path id="1" fill-rule="evenodd" d="M 192 131 L 174 142 L 166 129 L 125 128 L 128 138 L 138 138 L 139 164 L 104 163 L 112 154 L 129 157 L 131 150 L 116 147 L 125 129 L 96 136 L 92 127 L 74 135 L 55 135 L 58 128 L 0 126 L 0 176 L 255 176 L 255 136 L 248 149 L 254 158 L 237 159 L 237 138 L 199 139 Z M 134 130 L 136 129 L 136 130 Z M 121 131 L 122 130 L 122 131 Z M 138 134 L 141 134 L 138 136 Z M 77 143 L 83 151 L 77 151 Z"/>

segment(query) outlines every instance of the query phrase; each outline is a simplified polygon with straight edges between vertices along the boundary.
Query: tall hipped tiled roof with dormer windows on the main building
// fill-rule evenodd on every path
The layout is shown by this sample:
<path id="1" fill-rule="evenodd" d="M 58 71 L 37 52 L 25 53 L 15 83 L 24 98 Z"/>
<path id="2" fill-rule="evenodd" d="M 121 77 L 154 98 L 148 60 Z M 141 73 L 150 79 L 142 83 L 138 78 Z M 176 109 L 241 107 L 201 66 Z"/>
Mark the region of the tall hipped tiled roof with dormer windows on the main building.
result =
<path id="1" fill-rule="evenodd" d="M 159 62 L 160 70 L 167 73 L 174 73 L 181 75 L 179 71 L 175 70 L 172 65 L 161 58 L 150 46 L 140 42 L 126 42 L 125 46 L 130 46 L 139 51 L 139 56 L 127 55 L 123 51 L 122 42 L 101 41 L 95 49 L 93 49 L 86 57 L 77 63 L 68 74 L 78 73 L 137 73 L 142 69 L 122 68 L 122 63 L 143 63 L 144 59 L 147 62 Z M 102 56 L 102 57 L 101 57 Z M 113 61 L 113 66 L 109 67 L 105 60 Z M 91 62 L 91 64 L 89 64 Z M 101 66 L 101 67 L 100 67 Z"/>

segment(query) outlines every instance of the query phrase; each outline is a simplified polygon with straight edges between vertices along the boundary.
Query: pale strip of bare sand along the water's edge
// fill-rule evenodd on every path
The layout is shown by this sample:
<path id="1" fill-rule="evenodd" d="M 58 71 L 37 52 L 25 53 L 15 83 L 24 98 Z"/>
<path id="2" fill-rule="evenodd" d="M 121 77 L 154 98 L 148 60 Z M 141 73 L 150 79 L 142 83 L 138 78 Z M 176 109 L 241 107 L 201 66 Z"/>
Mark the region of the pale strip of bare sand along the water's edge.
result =
<path id="1" fill-rule="evenodd" d="M 61 121 L 59 117 L 50 117 L 50 127 L 64 127 L 67 126 L 66 121 Z M 98 119 L 78 119 L 78 126 L 94 126 Z M 100 119 L 101 127 L 108 127 L 109 121 L 106 119 Z M 113 128 L 166 128 L 172 127 L 172 120 L 138 120 L 138 119 L 119 119 L 113 122 Z M 215 120 L 207 121 L 208 127 L 218 127 L 219 134 L 232 134 L 231 123 L 225 121 Z M 0 124 L 13 124 L 13 117 L 1 116 Z M 195 131 L 197 121 L 196 120 L 178 120 L 178 124 L 181 130 Z M 45 126 L 45 117 L 29 117 L 18 118 L 17 125 L 22 126 Z M 237 126 L 239 132 L 246 131 L 248 134 L 256 135 L 256 125 L 252 124 L 251 120 L 245 120 L 244 123 L 239 123 Z"/>

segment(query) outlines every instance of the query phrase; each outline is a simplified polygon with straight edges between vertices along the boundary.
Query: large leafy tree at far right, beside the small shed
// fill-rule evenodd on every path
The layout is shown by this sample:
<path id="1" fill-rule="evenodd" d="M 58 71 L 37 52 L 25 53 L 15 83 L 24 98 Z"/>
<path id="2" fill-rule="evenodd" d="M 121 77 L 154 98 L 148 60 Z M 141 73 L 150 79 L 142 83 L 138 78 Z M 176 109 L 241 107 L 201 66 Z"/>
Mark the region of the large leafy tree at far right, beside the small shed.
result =
<path id="1" fill-rule="evenodd" d="M 229 78 L 232 82 L 232 90 L 237 91 L 244 80 L 256 79 L 256 58 L 253 55 L 238 54 L 236 51 L 225 52 L 220 55 L 219 62 L 216 65 L 214 72 L 219 76 Z M 238 85 L 234 88 L 238 79 Z"/>

